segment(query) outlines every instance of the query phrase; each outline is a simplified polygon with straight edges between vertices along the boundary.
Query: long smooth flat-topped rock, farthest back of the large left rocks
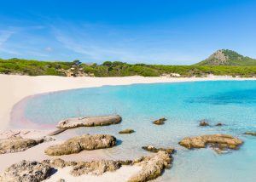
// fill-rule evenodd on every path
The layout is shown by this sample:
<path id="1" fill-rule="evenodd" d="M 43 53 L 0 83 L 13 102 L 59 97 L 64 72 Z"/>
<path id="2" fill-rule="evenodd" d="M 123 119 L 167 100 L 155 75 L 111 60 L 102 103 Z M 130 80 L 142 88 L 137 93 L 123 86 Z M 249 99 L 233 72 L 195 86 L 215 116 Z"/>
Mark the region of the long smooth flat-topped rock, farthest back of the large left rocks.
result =
<path id="1" fill-rule="evenodd" d="M 59 122 L 57 128 L 107 126 L 110 124 L 118 124 L 121 120 L 122 118 L 119 115 L 107 117 L 73 117 Z"/>

